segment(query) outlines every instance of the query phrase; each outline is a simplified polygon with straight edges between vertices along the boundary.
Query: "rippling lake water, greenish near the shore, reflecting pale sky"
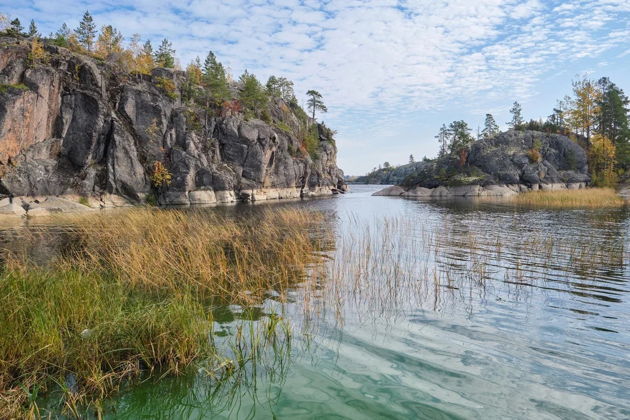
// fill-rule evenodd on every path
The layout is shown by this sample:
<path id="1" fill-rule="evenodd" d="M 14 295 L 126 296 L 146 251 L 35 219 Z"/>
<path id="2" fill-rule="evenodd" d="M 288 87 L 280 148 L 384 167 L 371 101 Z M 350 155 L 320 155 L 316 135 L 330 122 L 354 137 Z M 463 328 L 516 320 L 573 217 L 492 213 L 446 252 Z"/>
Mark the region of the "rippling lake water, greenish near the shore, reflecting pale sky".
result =
<path id="1" fill-rule="evenodd" d="M 630 212 L 372 197 L 209 209 L 323 211 L 327 262 L 281 302 L 217 308 L 228 356 L 286 331 L 218 386 L 202 368 L 126 387 L 106 418 L 630 418 Z M 0 228 L 5 246 L 25 229 Z M 41 259 L 63 247 L 43 235 Z M 253 321 L 250 321 L 253 320 Z M 285 325 L 285 324 L 283 324 Z"/>

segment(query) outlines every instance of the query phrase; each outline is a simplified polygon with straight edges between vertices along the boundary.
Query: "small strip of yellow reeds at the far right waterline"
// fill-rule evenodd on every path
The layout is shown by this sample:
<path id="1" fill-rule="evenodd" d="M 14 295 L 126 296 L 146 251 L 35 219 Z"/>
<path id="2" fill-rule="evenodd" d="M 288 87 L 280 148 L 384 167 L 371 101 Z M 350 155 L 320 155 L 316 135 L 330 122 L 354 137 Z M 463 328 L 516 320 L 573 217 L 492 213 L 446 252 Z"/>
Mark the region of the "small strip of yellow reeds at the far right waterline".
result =
<path id="1" fill-rule="evenodd" d="M 554 208 L 604 208 L 625 205 L 623 198 L 611 188 L 531 191 L 518 194 L 513 200 L 519 205 Z"/>

